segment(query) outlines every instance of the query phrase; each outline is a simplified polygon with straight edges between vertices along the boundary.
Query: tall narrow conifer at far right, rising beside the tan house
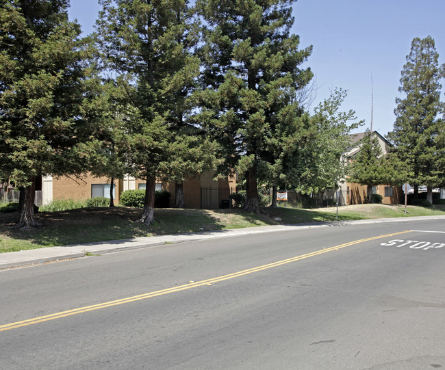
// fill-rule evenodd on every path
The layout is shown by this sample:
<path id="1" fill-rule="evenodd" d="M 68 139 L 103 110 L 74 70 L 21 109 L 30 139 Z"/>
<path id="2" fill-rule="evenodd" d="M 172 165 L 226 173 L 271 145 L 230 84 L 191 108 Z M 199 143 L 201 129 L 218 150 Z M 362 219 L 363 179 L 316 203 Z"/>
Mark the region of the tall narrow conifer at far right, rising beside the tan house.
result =
<path id="1" fill-rule="evenodd" d="M 403 97 L 396 98 L 396 122 L 388 135 L 407 170 L 407 182 L 414 185 L 414 194 L 417 196 L 419 185 L 427 185 L 430 202 L 433 187 L 445 184 L 445 125 L 440 118 L 444 112 L 440 79 L 445 67 L 438 57 L 431 36 L 414 38 L 398 88 Z"/>

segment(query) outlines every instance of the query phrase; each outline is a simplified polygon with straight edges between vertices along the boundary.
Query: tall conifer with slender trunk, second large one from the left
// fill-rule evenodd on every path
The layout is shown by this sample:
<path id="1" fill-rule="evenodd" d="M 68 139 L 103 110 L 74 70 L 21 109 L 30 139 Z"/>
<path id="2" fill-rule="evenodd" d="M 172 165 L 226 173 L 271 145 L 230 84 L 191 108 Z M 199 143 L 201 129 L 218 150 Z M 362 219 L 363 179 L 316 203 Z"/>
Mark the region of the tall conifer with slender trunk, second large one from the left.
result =
<path id="1" fill-rule="evenodd" d="M 194 18 L 183 0 L 100 0 L 97 38 L 105 66 L 122 86 L 120 114 L 127 119 L 133 174 L 147 179 L 140 222 L 151 224 L 155 180 L 188 166 L 190 140 L 177 130 L 185 100 L 199 75 Z M 177 166 L 173 168 L 175 161 Z"/>

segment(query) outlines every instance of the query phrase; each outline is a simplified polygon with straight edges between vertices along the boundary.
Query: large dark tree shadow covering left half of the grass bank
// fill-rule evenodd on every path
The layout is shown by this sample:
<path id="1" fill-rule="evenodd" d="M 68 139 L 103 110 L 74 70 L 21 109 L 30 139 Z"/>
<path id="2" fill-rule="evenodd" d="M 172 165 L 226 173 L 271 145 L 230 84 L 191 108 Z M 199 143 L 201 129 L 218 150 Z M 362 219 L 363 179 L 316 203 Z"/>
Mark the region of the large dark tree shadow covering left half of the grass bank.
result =
<path id="1" fill-rule="evenodd" d="M 14 227 L 19 213 L 2 214 L 0 237 L 10 238 L 14 244 L 12 249 L 3 247 L 3 252 L 225 228 L 222 220 L 205 210 L 155 209 L 156 221 L 150 226 L 136 222 L 141 213 L 141 209 L 125 207 L 37 213 L 42 226 L 30 230 Z"/>

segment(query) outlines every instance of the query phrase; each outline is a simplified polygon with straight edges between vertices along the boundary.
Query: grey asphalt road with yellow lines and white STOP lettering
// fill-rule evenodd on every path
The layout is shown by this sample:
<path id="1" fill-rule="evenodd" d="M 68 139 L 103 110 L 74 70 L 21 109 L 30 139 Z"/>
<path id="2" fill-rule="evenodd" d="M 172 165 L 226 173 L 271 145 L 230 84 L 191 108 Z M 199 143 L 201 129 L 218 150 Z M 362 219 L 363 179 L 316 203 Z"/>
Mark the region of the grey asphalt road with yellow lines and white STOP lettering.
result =
<path id="1" fill-rule="evenodd" d="M 0 368 L 445 368 L 444 267 L 402 220 L 3 270 Z"/>

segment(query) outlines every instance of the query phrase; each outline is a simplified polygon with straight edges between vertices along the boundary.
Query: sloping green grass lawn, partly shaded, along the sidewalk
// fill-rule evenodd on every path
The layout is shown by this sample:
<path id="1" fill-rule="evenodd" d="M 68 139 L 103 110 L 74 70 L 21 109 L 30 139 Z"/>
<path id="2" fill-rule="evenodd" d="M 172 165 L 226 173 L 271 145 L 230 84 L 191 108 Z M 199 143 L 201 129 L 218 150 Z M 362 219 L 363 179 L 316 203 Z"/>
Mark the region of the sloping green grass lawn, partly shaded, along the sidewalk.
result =
<path id="1" fill-rule="evenodd" d="M 0 252 L 12 252 L 69 244 L 89 243 L 132 237 L 149 237 L 203 230 L 223 230 L 272 224 L 299 224 L 335 221 L 335 207 L 324 209 L 264 209 L 264 214 L 242 210 L 155 209 L 155 224 L 136 222 L 141 209 L 125 207 L 82 208 L 37 214 L 41 227 L 21 230 L 15 226 L 19 214 L 0 214 Z M 360 204 L 340 207 L 338 220 L 363 220 L 381 217 L 445 215 L 445 209 L 401 205 Z M 277 218 L 278 217 L 278 218 Z"/>

